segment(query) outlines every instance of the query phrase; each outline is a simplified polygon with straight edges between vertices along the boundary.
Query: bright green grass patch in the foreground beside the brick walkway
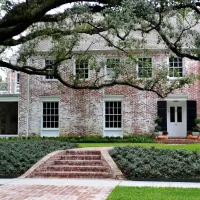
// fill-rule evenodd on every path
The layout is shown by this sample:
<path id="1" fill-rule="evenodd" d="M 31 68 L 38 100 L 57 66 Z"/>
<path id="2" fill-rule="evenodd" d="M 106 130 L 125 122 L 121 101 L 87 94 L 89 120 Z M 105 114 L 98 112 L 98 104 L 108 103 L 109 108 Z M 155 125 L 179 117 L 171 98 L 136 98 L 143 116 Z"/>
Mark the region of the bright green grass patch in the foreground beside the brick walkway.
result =
<path id="1" fill-rule="evenodd" d="M 107 200 L 199 200 L 200 189 L 117 186 Z"/>

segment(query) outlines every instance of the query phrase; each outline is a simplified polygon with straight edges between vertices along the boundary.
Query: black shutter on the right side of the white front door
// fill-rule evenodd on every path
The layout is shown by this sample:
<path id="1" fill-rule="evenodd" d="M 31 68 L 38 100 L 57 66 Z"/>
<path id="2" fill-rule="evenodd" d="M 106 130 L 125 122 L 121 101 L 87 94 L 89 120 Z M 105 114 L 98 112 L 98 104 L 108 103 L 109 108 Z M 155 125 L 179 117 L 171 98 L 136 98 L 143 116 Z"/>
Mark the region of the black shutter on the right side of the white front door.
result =
<path id="1" fill-rule="evenodd" d="M 197 117 L 197 102 L 194 100 L 187 101 L 187 131 L 192 131 L 196 124 L 194 120 Z"/>

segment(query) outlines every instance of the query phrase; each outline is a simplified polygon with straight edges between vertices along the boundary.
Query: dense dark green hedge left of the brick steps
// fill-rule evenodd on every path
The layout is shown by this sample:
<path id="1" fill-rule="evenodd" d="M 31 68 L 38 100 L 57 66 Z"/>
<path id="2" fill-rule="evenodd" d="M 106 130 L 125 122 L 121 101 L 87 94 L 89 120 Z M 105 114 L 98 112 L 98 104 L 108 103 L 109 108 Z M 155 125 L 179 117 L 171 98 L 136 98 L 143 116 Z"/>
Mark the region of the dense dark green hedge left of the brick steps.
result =
<path id="1" fill-rule="evenodd" d="M 53 140 L 24 140 L 0 142 L 0 176 L 19 176 L 45 155 L 76 144 Z"/>

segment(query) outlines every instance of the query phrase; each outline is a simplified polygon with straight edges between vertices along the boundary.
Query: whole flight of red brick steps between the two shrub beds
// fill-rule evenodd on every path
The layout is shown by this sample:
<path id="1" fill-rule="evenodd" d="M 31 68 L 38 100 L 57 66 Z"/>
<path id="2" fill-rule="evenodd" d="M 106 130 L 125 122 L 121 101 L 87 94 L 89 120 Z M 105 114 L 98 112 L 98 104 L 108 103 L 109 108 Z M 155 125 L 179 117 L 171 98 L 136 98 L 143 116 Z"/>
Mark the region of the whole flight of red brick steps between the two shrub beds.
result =
<path id="1" fill-rule="evenodd" d="M 65 151 L 50 158 L 29 177 L 57 178 L 113 178 L 100 151 Z"/>

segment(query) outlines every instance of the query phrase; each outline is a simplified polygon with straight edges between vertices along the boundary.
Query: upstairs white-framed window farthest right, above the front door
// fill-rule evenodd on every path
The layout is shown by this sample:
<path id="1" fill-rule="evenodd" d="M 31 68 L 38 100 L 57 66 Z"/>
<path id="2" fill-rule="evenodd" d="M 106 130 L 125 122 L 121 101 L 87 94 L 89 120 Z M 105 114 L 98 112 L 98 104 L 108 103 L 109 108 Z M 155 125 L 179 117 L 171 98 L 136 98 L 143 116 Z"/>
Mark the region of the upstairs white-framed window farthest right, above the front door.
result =
<path id="1" fill-rule="evenodd" d="M 169 77 L 183 77 L 182 58 L 169 58 Z"/>

